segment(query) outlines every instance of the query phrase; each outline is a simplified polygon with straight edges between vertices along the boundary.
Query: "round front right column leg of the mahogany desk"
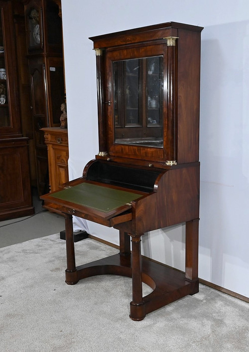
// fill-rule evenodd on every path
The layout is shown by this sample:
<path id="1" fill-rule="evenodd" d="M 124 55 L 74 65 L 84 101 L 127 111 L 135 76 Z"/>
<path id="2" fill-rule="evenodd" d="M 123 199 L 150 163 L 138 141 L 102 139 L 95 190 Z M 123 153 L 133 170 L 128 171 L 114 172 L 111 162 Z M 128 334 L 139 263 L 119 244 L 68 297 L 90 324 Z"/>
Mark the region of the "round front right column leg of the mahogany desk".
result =
<path id="1" fill-rule="evenodd" d="M 130 318 L 142 320 L 145 317 L 142 301 L 142 268 L 141 268 L 141 239 L 131 237 L 132 248 L 132 302 L 130 302 Z"/>

